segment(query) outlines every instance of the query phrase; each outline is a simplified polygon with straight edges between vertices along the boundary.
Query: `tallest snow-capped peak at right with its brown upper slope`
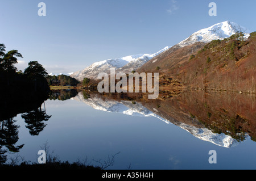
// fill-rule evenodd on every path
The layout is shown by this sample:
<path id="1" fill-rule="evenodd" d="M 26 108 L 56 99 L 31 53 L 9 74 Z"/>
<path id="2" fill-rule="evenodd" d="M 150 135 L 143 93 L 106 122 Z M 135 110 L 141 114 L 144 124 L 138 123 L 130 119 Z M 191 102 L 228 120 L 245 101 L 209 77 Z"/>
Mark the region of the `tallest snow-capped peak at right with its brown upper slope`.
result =
<path id="1" fill-rule="evenodd" d="M 226 21 L 214 24 L 213 26 L 193 33 L 187 39 L 172 46 L 165 52 L 160 53 L 158 56 L 155 56 L 138 68 L 137 71 L 151 72 L 154 71 L 157 66 L 159 66 L 162 71 L 168 71 L 175 68 L 178 64 L 181 65 L 185 61 L 188 61 L 191 54 L 202 49 L 204 45 L 210 43 L 210 41 L 223 40 L 236 32 L 243 32 L 245 34 L 245 39 L 249 37 L 250 33 L 249 30 L 241 27 L 237 23 Z"/>

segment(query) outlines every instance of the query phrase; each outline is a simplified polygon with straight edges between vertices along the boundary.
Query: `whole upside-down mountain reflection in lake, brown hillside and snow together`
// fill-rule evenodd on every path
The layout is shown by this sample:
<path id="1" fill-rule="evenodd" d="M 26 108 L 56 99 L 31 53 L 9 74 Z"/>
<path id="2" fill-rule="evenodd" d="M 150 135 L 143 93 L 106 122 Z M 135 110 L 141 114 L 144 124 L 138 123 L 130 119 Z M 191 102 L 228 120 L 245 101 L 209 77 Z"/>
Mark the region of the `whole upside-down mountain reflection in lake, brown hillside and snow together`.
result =
<path id="1" fill-rule="evenodd" d="M 230 148 L 246 138 L 255 140 L 255 96 L 237 93 L 201 91 L 168 98 L 144 99 L 144 96 L 120 94 L 90 94 L 73 98 L 102 111 L 131 116 L 154 116 L 177 125 L 193 136 Z M 122 98 L 121 98 L 122 97 Z"/>

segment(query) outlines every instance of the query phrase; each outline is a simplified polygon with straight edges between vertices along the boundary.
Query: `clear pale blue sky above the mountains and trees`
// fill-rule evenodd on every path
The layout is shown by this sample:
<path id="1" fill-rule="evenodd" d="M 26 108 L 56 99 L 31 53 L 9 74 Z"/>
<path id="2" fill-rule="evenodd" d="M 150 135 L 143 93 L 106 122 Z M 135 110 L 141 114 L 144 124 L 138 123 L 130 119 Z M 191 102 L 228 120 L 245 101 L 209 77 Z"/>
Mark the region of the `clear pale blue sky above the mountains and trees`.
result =
<path id="1" fill-rule="evenodd" d="M 39 16 L 38 4 L 46 4 Z M 217 16 L 209 16 L 210 2 Z M 255 0 L 1 0 L 0 43 L 22 53 L 18 69 L 39 61 L 48 73 L 155 53 L 193 32 L 230 20 L 256 31 Z"/>

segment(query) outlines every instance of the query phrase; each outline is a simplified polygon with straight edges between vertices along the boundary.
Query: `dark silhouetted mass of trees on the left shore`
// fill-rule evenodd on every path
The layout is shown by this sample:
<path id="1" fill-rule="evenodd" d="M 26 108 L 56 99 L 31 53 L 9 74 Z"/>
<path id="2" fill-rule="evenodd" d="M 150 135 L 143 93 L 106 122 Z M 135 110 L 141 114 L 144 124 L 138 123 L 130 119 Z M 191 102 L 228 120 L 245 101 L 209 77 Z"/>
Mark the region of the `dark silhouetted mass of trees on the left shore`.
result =
<path id="1" fill-rule="evenodd" d="M 18 50 L 5 52 L 0 44 L 0 119 L 5 120 L 39 107 L 48 99 L 48 75 L 38 61 L 31 61 L 28 67 L 17 71 L 17 57 L 22 58 Z"/>

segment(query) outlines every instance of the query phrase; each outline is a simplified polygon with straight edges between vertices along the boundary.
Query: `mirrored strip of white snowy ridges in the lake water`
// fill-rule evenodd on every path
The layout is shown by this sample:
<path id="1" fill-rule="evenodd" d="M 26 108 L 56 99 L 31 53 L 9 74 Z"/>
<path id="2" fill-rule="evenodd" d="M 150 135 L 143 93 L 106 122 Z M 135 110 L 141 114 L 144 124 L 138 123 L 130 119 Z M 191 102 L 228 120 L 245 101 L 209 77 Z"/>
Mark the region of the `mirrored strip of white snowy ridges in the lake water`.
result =
<path id="1" fill-rule="evenodd" d="M 196 128 L 192 125 L 187 125 L 184 123 L 181 123 L 177 120 L 166 120 L 163 117 L 159 116 L 157 113 L 157 110 L 154 112 L 148 110 L 146 107 L 142 106 L 141 103 L 133 104 L 130 101 L 127 100 L 103 100 L 100 96 L 93 96 L 93 98 L 84 99 L 82 92 L 79 92 L 79 94 L 72 98 L 72 100 L 77 100 L 79 102 L 83 102 L 87 104 L 88 106 L 100 110 L 100 111 L 106 111 L 106 112 L 113 112 L 113 113 L 123 113 L 125 115 L 130 116 L 139 116 L 139 117 L 156 117 L 161 121 L 164 121 L 164 123 L 167 124 L 175 124 L 178 127 L 184 129 L 185 131 L 188 131 L 193 136 L 199 138 L 200 140 L 211 142 L 212 144 L 222 146 L 225 148 L 231 148 L 233 146 L 237 146 L 240 144 L 237 140 L 234 138 L 221 133 L 213 133 L 207 128 Z"/>

